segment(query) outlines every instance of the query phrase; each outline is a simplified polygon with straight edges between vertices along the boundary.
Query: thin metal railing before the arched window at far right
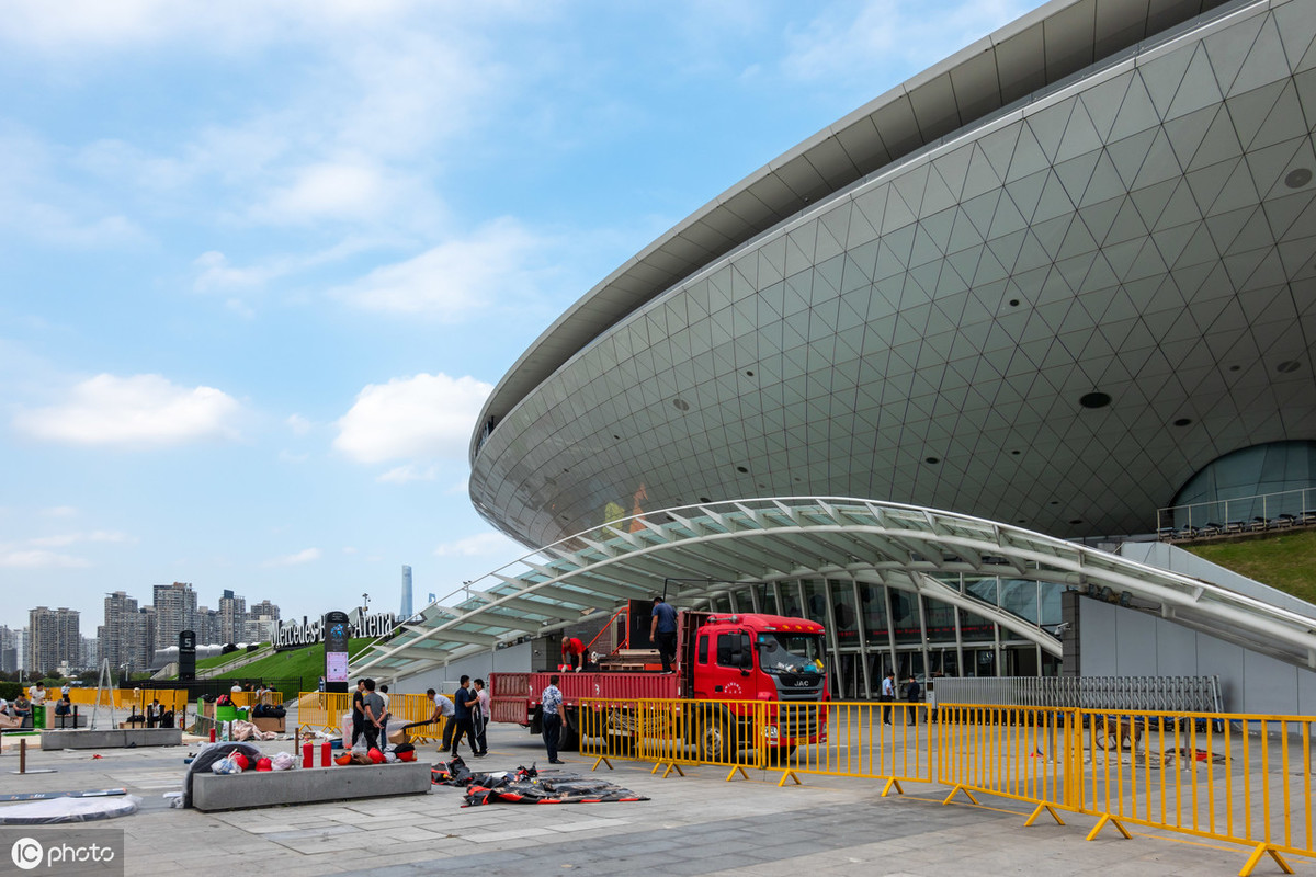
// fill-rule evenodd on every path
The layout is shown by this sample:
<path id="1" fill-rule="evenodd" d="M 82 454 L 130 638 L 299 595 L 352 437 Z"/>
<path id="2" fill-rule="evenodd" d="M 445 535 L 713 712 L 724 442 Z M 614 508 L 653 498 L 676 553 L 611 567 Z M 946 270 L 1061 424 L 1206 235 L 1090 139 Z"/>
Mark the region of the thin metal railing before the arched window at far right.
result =
<path id="1" fill-rule="evenodd" d="M 1316 523 L 1316 488 L 1166 506 L 1155 519 L 1163 542 L 1308 526 Z"/>

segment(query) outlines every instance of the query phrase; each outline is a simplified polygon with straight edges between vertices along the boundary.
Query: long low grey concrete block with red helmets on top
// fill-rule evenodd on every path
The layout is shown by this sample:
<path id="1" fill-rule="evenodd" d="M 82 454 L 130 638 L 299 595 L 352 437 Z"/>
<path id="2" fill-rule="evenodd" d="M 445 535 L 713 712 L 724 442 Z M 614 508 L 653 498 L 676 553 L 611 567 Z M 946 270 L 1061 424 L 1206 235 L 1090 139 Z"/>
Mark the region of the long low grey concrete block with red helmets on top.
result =
<path id="1" fill-rule="evenodd" d="M 292 770 L 246 770 L 233 776 L 196 773 L 192 806 L 197 810 L 247 810 L 282 803 L 355 801 L 399 794 L 426 794 L 430 785 L 426 761 L 397 764 L 350 764 Z"/>

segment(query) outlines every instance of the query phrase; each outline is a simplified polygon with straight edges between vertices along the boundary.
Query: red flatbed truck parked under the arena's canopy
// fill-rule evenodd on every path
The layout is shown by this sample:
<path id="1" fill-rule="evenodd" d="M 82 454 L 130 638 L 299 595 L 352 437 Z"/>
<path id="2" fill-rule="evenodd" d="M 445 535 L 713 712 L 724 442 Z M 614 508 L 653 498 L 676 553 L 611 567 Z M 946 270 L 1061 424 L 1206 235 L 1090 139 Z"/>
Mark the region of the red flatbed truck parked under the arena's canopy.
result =
<path id="1" fill-rule="evenodd" d="M 699 701 L 699 719 L 682 722 L 680 732 L 701 757 L 715 761 L 759 744 L 784 757 L 796 746 L 826 739 L 825 707 L 791 706 L 828 699 L 821 625 L 782 615 L 690 610 L 678 611 L 676 621 L 675 672 L 661 672 L 654 652 L 621 651 L 600 659 L 599 669 L 578 673 L 491 673 L 492 721 L 516 722 L 540 734 L 540 696 L 555 675 L 566 707 L 559 749 L 575 749 L 582 731 L 624 747 L 636 746 L 645 734 L 625 706 L 601 705 L 608 709 L 605 718 L 582 723 L 582 698 Z M 759 709 L 761 703 L 766 707 Z"/>

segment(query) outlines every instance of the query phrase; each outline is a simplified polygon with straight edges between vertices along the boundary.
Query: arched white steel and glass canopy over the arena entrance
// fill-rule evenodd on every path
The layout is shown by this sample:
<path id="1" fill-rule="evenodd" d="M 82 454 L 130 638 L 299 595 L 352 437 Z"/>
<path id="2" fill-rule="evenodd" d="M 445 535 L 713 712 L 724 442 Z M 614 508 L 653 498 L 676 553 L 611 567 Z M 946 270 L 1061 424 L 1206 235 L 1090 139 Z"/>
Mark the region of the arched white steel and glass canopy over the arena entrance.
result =
<path id="1" fill-rule="evenodd" d="M 1316 619 L 1219 585 L 963 514 L 791 497 L 666 509 L 569 536 L 472 582 L 457 606 L 430 604 L 354 671 L 407 676 L 628 598 L 666 590 L 671 602 L 692 605 L 737 584 L 803 577 L 921 593 L 1061 653 L 1044 627 L 944 581 L 957 573 L 1128 592 L 1140 609 L 1316 667 Z"/>

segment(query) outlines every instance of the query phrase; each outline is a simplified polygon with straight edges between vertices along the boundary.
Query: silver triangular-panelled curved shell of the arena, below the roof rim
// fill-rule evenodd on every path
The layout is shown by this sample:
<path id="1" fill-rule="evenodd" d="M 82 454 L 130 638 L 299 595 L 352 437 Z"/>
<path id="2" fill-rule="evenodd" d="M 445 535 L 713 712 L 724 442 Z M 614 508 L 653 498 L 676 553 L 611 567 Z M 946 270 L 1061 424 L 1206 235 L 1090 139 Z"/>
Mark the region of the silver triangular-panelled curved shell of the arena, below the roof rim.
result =
<path id="1" fill-rule="evenodd" d="M 1221 9 L 778 224 L 537 384 L 472 502 L 528 544 L 794 494 L 1150 533 L 1316 438 L 1313 30 Z"/>

